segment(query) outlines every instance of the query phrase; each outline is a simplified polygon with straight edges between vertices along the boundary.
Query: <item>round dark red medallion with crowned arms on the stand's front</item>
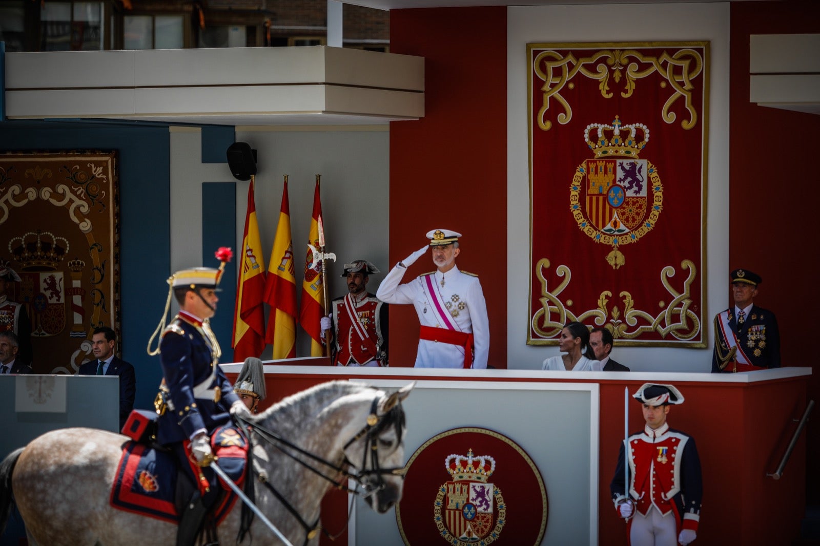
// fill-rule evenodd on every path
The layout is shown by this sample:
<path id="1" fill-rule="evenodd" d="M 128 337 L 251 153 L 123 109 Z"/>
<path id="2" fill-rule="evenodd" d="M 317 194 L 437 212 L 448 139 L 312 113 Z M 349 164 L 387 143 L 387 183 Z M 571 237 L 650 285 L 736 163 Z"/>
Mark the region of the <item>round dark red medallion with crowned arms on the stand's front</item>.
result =
<path id="1" fill-rule="evenodd" d="M 494 430 L 428 439 L 407 464 L 396 521 L 404 544 L 540 544 L 547 492 L 529 455 Z"/>

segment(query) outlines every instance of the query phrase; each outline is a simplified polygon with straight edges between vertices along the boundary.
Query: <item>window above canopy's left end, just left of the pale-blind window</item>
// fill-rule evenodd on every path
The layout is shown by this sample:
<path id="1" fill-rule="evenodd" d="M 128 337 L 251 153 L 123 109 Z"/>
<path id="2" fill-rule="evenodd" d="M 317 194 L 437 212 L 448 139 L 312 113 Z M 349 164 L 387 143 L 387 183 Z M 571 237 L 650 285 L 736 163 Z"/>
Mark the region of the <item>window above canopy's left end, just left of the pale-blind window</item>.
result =
<path id="1" fill-rule="evenodd" d="M 41 51 L 103 49 L 103 2 L 43 2 Z"/>

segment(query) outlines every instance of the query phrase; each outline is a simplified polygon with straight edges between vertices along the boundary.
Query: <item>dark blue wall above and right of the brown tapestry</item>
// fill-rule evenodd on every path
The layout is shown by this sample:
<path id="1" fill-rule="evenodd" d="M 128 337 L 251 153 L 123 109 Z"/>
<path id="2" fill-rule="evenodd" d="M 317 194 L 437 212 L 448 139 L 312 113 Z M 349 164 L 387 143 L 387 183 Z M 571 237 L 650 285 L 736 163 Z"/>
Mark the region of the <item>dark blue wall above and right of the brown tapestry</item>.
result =
<path id="1" fill-rule="evenodd" d="M 135 406 L 151 408 L 162 371 L 158 357 L 148 357 L 145 348 L 165 307 L 166 279 L 171 274 L 168 129 L 144 125 L 0 123 L 2 151 L 80 149 L 117 152 L 121 226 L 120 347 L 122 357 L 136 370 Z M 231 214 L 235 214 L 233 210 L 231 208 Z M 33 224 L 32 229 L 35 228 Z"/>

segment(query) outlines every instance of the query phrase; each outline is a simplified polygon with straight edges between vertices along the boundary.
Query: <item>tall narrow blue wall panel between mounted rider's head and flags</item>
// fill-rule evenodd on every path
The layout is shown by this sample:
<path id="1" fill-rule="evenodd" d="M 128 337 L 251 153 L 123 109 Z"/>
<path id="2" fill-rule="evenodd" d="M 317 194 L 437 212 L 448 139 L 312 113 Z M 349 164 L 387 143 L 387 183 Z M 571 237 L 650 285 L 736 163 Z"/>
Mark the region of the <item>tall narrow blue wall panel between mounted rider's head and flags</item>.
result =
<path id="1" fill-rule="evenodd" d="M 208 182 L 203 184 L 203 266 L 216 267 L 219 262 L 214 257 L 217 248 L 233 247 L 236 240 L 236 183 Z M 220 283 L 219 303 L 216 315 L 211 319 L 211 328 L 220 339 L 222 357 L 220 362 L 234 362 L 233 344 L 234 303 L 236 302 L 236 263 L 241 248 L 234 248 L 234 259 L 225 265 L 222 273 L 224 283 Z"/>

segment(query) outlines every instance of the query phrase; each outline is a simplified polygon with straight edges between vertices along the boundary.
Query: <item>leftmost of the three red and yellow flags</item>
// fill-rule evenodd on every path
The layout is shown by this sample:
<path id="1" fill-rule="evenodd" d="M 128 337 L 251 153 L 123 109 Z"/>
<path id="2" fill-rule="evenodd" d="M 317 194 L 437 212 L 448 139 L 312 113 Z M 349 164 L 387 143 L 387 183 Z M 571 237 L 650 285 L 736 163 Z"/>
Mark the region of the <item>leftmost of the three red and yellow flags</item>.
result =
<path id="1" fill-rule="evenodd" d="M 242 257 L 239 262 L 239 280 L 236 285 L 234 311 L 234 361 L 260 357 L 265 349 L 265 310 L 262 294 L 265 292 L 265 258 L 259 241 L 256 203 L 253 201 L 253 176 L 248 188 L 248 213 L 242 239 Z"/>

